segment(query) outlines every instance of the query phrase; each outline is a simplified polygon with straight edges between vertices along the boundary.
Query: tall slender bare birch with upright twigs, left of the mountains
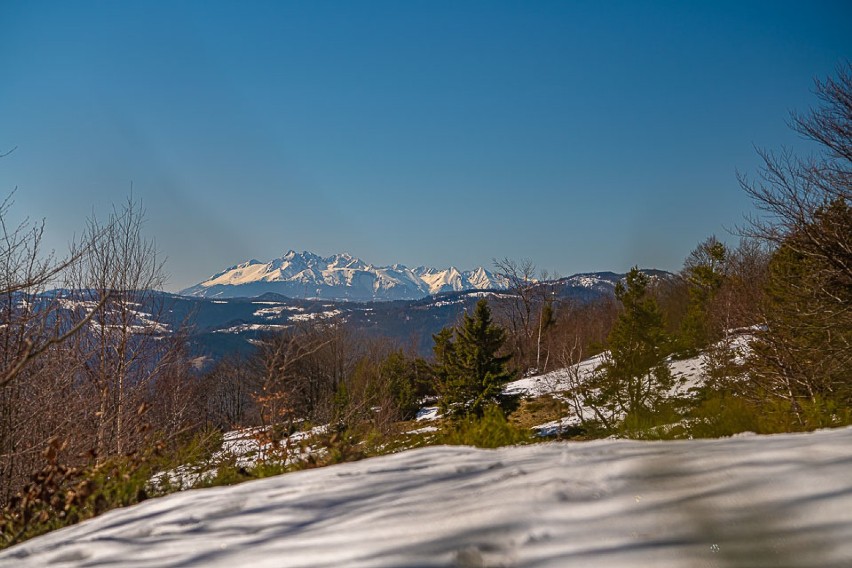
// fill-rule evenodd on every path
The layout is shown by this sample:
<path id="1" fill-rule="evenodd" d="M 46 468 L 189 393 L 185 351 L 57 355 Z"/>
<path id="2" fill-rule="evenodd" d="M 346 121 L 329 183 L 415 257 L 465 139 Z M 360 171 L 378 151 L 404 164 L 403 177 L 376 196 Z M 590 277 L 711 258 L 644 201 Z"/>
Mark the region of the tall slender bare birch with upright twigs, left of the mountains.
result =
<path id="1" fill-rule="evenodd" d="M 154 242 L 143 236 L 143 225 L 144 211 L 132 196 L 105 223 L 93 216 L 83 241 L 94 244 L 70 267 L 66 279 L 78 306 L 76 317 L 95 307 L 91 324 L 74 341 L 85 362 L 84 380 L 99 401 L 99 456 L 120 455 L 140 443 L 131 440 L 140 420 L 137 409 L 170 360 L 163 352 L 164 347 L 168 351 L 164 338 L 169 330 L 154 293 L 165 278 L 163 264 Z"/>

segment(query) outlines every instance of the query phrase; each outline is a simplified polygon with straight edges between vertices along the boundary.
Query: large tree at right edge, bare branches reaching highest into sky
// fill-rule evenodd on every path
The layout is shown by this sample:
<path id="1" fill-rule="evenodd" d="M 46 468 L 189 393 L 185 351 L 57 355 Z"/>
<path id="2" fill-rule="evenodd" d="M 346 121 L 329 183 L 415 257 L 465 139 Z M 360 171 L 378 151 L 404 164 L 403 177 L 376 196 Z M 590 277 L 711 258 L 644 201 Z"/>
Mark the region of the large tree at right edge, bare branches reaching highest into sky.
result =
<path id="1" fill-rule="evenodd" d="M 752 375 L 802 424 L 805 401 L 852 402 L 852 64 L 816 94 L 819 106 L 790 125 L 819 153 L 760 151 L 758 179 L 740 176 L 763 214 L 744 232 L 776 247 Z"/>

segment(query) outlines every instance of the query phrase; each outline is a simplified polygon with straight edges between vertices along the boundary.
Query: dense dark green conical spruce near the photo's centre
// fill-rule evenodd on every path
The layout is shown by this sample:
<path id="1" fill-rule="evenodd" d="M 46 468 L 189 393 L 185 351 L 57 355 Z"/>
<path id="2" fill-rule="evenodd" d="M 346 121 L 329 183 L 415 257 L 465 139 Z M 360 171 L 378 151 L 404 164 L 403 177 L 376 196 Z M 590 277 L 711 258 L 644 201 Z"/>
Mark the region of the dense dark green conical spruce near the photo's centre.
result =
<path id="1" fill-rule="evenodd" d="M 498 355 L 506 331 L 491 320 L 485 298 L 461 326 L 433 336 L 435 375 L 441 405 L 451 415 L 481 416 L 486 406 L 501 401 L 503 387 L 514 377 L 507 368 L 511 355 Z"/>

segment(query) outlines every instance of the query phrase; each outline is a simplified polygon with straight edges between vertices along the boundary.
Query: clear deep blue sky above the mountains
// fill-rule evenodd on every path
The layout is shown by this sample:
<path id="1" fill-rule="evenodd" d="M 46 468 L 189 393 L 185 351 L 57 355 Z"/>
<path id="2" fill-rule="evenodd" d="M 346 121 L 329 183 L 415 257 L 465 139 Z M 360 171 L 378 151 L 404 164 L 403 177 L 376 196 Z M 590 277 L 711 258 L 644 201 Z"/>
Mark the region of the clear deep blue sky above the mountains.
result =
<path id="1" fill-rule="evenodd" d="M 678 269 L 852 58 L 839 2 L 0 2 L 0 192 L 129 192 L 168 288 L 288 249 Z"/>

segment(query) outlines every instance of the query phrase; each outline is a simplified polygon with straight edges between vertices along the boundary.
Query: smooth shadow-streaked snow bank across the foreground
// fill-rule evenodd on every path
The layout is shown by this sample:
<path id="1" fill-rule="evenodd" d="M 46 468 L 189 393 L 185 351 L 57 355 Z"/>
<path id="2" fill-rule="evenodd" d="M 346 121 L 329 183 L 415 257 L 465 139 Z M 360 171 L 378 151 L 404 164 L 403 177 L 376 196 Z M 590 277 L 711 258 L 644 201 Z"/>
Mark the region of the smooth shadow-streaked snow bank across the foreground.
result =
<path id="1" fill-rule="evenodd" d="M 2 566 L 850 566 L 852 429 L 430 447 L 187 491 Z"/>

